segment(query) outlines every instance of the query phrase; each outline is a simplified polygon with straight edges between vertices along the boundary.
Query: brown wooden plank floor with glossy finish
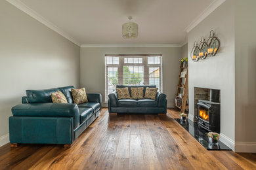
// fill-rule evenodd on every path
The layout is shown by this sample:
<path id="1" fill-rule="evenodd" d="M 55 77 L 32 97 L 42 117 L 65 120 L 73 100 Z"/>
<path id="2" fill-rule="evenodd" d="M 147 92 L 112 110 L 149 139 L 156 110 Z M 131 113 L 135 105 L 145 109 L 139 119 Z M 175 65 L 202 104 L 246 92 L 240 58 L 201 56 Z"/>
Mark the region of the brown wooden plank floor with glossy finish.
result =
<path id="1" fill-rule="evenodd" d="M 169 114 L 102 114 L 71 148 L 0 148 L 0 169 L 256 169 L 256 154 L 207 151 Z"/>

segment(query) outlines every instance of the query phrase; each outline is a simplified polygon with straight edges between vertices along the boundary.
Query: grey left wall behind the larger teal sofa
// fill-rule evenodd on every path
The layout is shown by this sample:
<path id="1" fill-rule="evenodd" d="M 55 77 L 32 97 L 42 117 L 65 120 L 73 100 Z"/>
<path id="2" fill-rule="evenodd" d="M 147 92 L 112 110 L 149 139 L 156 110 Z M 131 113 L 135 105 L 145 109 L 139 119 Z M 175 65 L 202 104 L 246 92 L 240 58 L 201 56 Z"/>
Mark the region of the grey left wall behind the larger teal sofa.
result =
<path id="1" fill-rule="evenodd" d="M 0 1 L 0 23 L 3 139 L 9 133 L 11 107 L 21 103 L 25 90 L 79 86 L 80 48 L 6 1 Z"/>

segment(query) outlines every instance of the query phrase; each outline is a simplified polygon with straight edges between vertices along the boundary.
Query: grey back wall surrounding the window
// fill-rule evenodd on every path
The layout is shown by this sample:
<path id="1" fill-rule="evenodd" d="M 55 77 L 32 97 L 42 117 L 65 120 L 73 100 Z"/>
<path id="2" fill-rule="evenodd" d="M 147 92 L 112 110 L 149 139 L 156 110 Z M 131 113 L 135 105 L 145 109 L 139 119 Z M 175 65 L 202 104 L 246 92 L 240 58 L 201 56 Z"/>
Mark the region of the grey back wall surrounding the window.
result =
<path id="1" fill-rule="evenodd" d="M 101 93 L 103 100 L 105 99 L 105 54 L 162 54 L 163 93 L 167 94 L 168 107 L 174 107 L 181 48 L 81 48 L 81 86 L 85 87 L 87 92 Z"/>

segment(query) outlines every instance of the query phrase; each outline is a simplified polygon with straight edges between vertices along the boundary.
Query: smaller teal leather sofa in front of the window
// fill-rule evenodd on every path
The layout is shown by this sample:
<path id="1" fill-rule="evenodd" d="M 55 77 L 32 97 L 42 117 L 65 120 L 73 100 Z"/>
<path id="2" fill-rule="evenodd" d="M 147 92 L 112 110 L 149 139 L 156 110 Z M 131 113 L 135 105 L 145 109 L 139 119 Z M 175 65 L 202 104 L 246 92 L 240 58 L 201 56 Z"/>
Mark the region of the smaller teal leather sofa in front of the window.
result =
<path id="1" fill-rule="evenodd" d="M 131 88 L 156 88 L 156 86 L 125 86 L 116 85 L 116 88 L 128 88 L 131 95 Z M 110 93 L 108 95 L 108 112 L 112 113 L 140 113 L 140 114 L 158 114 L 167 112 L 167 100 L 164 93 L 158 92 L 156 100 L 153 99 L 118 99 L 117 93 Z"/>

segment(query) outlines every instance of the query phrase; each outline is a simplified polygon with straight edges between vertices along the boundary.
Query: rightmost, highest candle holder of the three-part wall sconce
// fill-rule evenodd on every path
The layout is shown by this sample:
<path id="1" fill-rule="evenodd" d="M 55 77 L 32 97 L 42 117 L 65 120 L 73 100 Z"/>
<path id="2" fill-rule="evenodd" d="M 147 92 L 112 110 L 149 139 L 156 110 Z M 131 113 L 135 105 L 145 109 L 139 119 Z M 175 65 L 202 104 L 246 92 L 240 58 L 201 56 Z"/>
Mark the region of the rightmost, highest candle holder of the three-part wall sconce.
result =
<path id="1" fill-rule="evenodd" d="M 207 54 L 209 56 L 215 56 L 217 51 L 219 50 L 219 40 L 215 37 L 215 32 L 213 30 L 210 31 L 210 37 L 207 41 L 208 51 Z"/>

